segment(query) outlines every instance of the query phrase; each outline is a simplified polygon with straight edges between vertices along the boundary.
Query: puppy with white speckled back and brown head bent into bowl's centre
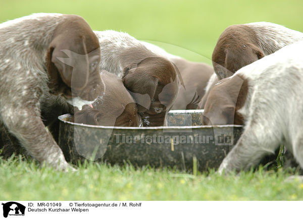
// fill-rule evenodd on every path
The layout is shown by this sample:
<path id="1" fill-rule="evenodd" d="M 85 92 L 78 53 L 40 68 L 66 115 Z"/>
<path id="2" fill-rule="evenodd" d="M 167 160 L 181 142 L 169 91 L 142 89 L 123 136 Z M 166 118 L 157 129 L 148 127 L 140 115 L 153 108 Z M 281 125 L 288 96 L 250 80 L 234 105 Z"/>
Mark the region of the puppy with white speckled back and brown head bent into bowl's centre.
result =
<path id="1" fill-rule="evenodd" d="M 123 79 L 138 104 L 144 126 L 163 126 L 178 94 L 177 68 L 127 33 L 112 30 L 94 33 L 100 43 L 100 70 Z"/>

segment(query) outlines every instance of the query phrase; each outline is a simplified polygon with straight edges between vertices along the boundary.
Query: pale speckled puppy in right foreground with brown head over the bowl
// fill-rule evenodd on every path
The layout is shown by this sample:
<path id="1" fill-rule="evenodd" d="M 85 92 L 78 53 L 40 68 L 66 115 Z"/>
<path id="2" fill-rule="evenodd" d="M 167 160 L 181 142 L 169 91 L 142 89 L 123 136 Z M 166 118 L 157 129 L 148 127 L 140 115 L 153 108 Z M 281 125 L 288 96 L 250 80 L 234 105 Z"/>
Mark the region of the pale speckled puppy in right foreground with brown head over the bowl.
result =
<path id="1" fill-rule="evenodd" d="M 303 41 L 285 46 L 211 89 L 212 101 L 208 99 L 205 107 L 207 124 L 232 123 L 234 114 L 244 123 L 244 131 L 222 161 L 220 173 L 247 170 L 281 144 L 303 168 L 302 51 Z M 223 92 L 217 92 L 216 87 Z M 240 97 L 236 97 L 236 90 Z"/>

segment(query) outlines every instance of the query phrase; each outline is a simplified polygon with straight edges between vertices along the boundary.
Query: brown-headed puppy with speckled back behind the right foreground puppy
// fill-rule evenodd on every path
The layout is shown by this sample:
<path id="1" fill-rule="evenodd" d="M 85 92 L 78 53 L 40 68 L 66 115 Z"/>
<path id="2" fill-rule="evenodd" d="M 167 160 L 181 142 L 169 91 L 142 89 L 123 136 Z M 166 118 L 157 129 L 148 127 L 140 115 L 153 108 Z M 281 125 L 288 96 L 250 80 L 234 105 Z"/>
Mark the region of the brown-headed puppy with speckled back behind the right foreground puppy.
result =
<path id="1" fill-rule="evenodd" d="M 212 55 L 217 78 L 211 77 L 206 94 L 198 104 L 199 108 L 204 108 L 209 89 L 218 79 L 229 77 L 240 68 L 298 40 L 303 40 L 303 33 L 269 22 L 227 27 L 220 35 Z"/>

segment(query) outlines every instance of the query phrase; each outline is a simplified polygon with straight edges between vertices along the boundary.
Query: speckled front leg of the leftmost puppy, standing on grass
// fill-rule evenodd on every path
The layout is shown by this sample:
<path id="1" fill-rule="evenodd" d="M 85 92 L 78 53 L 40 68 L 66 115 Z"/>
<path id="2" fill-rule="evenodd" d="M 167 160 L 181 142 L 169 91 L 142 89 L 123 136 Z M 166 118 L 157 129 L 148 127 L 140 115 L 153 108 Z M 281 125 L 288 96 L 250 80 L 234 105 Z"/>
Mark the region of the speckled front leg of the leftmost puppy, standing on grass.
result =
<path id="1" fill-rule="evenodd" d="M 34 158 L 60 170 L 73 169 L 66 162 L 55 140 L 45 130 L 38 109 L 9 108 L 10 111 L 2 113 L 4 124 Z"/>

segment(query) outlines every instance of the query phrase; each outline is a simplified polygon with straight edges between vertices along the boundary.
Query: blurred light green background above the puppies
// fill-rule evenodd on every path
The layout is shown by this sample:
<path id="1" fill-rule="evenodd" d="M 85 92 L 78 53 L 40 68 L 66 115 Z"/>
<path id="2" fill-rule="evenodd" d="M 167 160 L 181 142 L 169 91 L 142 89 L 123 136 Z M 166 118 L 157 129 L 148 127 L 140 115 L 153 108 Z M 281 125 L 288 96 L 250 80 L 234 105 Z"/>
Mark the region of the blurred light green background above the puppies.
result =
<path id="1" fill-rule="evenodd" d="M 301 0 L 0 0 L 0 22 L 38 12 L 77 14 L 93 30 L 124 31 L 207 63 L 221 32 L 232 24 L 267 21 L 303 32 Z"/>

